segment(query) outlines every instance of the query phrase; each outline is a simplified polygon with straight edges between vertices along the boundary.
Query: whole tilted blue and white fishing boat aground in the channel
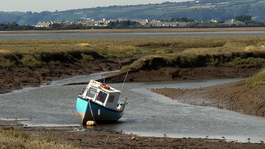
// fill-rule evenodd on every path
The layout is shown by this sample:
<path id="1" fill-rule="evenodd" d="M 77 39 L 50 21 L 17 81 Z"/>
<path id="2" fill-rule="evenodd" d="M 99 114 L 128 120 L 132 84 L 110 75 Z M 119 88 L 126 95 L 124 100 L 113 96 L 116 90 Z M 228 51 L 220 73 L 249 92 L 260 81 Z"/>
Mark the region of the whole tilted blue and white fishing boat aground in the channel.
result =
<path id="1" fill-rule="evenodd" d="M 83 120 L 83 125 L 87 121 L 101 124 L 118 121 L 128 103 L 127 98 L 123 101 L 119 100 L 120 94 L 121 91 L 113 87 L 90 80 L 87 87 L 83 88 L 82 93 L 78 94 L 76 100 L 76 110 Z"/>

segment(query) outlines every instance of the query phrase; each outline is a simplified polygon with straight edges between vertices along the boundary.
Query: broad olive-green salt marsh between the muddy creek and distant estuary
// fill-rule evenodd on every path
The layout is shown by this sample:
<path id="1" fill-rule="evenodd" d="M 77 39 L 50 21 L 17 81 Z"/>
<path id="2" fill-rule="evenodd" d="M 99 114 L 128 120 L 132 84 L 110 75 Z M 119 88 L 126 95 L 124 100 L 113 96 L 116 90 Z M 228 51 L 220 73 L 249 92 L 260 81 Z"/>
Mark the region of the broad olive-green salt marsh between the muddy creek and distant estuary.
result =
<path id="1" fill-rule="evenodd" d="M 265 35 L 260 35 L 265 40 Z M 264 43 L 264 42 L 263 42 Z M 54 61 L 127 58 L 146 54 L 122 70 L 264 64 L 265 47 L 256 36 L 193 36 L 0 40 L 0 67 L 42 67 Z"/>

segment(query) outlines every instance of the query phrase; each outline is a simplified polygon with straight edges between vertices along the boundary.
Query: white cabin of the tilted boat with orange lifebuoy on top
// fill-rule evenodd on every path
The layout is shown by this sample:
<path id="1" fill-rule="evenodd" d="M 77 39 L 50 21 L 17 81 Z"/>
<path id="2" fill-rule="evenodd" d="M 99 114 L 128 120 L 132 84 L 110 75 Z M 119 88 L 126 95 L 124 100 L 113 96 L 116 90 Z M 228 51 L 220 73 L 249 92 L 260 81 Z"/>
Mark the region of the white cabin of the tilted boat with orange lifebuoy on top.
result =
<path id="1" fill-rule="evenodd" d="M 95 80 L 90 80 L 82 94 L 82 98 L 90 99 L 95 103 L 117 110 L 117 103 L 120 98 L 121 91 L 109 87 Z"/>

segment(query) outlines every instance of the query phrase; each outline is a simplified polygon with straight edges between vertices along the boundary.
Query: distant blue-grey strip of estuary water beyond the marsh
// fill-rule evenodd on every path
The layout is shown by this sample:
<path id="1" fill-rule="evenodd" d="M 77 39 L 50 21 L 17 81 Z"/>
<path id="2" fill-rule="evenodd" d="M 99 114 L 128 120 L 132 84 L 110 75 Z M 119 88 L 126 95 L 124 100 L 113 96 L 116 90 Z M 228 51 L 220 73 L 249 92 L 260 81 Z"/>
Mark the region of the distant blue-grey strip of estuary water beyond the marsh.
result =
<path id="1" fill-rule="evenodd" d="M 127 38 L 174 36 L 264 35 L 265 31 L 198 31 L 198 32 L 142 32 L 142 33 L 49 33 L 0 34 L 0 39 L 55 39 L 55 38 Z"/>

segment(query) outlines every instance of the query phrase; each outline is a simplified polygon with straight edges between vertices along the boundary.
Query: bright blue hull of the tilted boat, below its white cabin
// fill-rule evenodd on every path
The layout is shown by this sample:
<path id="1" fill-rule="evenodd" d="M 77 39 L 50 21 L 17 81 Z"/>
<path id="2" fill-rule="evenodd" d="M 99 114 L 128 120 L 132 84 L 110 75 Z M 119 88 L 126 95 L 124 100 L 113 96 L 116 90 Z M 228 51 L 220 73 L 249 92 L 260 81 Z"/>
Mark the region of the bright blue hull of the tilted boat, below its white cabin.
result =
<path id="1" fill-rule="evenodd" d="M 123 115 L 123 111 L 113 110 L 93 101 L 90 101 L 90 105 L 96 123 L 113 123 L 119 120 Z M 98 115 L 98 109 L 100 109 L 100 115 Z M 82 118 L 84 125 L 87 121 L 94 121 L 88 100 L 83 99 L 80 95 L 78 95 L 76 100 L 76 110 L 78 115 Z"/>

